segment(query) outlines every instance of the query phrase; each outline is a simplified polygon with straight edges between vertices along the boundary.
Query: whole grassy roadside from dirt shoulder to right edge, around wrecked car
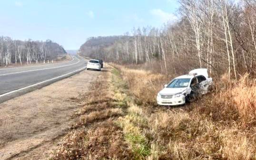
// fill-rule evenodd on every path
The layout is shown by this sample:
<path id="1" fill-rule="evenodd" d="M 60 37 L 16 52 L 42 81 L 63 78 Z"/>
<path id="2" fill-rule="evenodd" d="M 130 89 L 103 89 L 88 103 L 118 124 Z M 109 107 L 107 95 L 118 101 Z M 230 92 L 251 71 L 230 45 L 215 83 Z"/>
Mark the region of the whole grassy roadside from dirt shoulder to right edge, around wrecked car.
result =
<path id="1" fill-rule="evenodd" d="M 123 66 L 102 73 L 52 159 L 254 160 L 256 95 L 248 75 L 182 107 L 159 107 L 171 77 Z M 99 79 L 101 80 L 101 79 Z"/>

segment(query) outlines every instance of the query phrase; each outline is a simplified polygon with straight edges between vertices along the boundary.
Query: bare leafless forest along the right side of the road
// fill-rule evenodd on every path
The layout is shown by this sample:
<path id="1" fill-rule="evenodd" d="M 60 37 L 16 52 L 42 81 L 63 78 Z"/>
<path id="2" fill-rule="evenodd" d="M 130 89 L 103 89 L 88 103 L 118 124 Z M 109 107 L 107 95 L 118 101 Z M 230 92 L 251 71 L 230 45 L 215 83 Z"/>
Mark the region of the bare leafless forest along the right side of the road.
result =
<path id="1" fill-rule="evenodd" d="M 159 61 L 163 73 L 201 67 L 217 74 L 226 72 L 230 78 L 243 72 L 255 74 L 256 0 L 179 3 L 176 22 L 161 29 L 134 28 L 131 36 L 94 46 L 90 55 L 103 53 L 105 61 L 119 63 Z M 80 52 L 87 51 L 80 48 Z"/>

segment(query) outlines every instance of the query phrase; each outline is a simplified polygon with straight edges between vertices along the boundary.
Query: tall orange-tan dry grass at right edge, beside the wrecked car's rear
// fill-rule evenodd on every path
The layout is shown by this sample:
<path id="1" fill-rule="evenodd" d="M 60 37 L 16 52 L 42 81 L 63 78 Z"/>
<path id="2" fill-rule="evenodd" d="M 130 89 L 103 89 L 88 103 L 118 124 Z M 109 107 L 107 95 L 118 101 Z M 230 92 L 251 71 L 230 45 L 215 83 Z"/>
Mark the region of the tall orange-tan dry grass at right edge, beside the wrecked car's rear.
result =
<path id="1" fill-rule="evenodd" d="M 225 77 L 225 76 L 224 76 Z M 240 80 L 221 78 L 216 91 L 200 101 L 196 110 L 214 120 L 236 121 L 244 126 L 256 122 L 256 84 L 245 74 Z"/>

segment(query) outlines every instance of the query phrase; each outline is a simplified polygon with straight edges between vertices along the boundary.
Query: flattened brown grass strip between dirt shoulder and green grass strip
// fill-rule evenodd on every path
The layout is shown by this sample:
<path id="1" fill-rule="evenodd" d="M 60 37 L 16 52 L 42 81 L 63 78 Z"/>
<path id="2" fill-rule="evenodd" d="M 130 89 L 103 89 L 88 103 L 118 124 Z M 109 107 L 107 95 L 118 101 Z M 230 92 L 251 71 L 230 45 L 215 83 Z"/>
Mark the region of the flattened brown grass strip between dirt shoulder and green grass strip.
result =
<path id="1" fill-rule="evenodd" d="M 124 140 L 122 128 L 116 123 L 116 119 L 124 115 L 123 98 L 118 99 L 112 95 L 110 73 L 105 72 L 102 76 L 106 81 L 98 80 L 91 86 L 84 106 L 75 115 L 78 116 L 77 123 L 63 137 L 51 159 L 133 159 L 133 153 Z"/>

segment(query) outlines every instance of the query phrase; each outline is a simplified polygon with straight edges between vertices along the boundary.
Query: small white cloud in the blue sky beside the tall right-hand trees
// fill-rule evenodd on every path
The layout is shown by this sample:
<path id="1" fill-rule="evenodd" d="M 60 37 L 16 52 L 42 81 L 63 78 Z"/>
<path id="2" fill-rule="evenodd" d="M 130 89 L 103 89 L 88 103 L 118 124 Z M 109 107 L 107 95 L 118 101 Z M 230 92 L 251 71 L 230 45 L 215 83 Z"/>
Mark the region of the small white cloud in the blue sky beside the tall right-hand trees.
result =
<path id="1" fill-rule="evenodd" d="M 161 20 L 162 23 L 173 22 L 177 20 L 177 16 L 175 16 L 173 13 L 165 12 L 162 9 L 152 9 L 150 10 L 150 13 L 153 16 L 159 18 L 159 20 Z"/>

